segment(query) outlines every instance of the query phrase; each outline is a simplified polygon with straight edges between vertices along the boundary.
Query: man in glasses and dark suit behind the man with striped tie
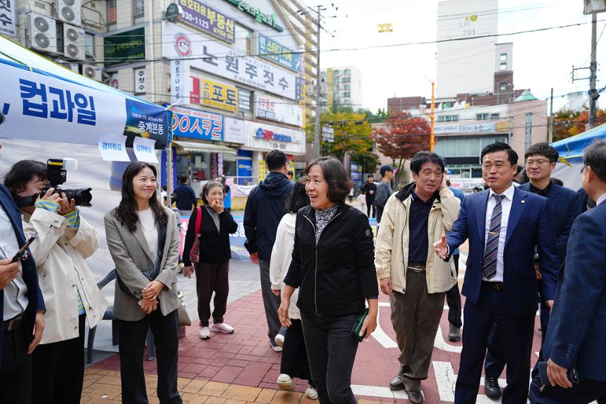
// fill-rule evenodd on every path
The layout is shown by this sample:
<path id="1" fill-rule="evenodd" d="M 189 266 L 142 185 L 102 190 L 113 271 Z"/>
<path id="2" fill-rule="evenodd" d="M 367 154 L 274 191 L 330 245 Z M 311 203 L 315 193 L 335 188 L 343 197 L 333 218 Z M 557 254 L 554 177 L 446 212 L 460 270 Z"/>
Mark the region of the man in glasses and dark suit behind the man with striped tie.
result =
<path id="1" fill-rule="evenodd" d="M 574 190 L 552 183 L 551 173 L 555 169 L 558 158 L 559 154 L 557 150 L 547 142 L 536 143 L 528 147 L 528 150 L 524 154 L 524 161 L 530 182 L 520 185 L 519 189 L 546 197 L 549 201 L 559 257 L 558 267 L 560 267 L 566 257 L 566 244 L 568 243 L 570 229 L 576 216 L 581 214 L 581 205 L 578 202 L 578 195 Z M 540 273 L 537 276 L 537 286 L 541 302 L 541 341 L 544 341 L 547 325 L 549 324 L 549 307 L 547 307 L 543 293 L 541 293 Z M 490 333 L 490 337 L 488 338 L 488 350 L 484 364 L 484 390 L 487 396 L 495 398 L 501 396 L 498 379 L 504 367 L 505 357 L 503 347 L 500 342 L 498 329 L 495 329 Z"/>

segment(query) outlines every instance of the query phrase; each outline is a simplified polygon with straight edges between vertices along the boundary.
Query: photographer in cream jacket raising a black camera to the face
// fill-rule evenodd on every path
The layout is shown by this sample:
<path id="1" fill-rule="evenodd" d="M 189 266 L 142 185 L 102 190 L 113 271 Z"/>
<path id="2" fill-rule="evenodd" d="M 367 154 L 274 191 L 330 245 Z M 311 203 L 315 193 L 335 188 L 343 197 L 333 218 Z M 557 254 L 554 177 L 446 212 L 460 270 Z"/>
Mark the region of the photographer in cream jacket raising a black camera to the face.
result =
<path id="1" fill-rule="evenodd" d="M 97 231 L 80 217 L 75 199 L 49 188 L 56 171 L 64 180 L 57 160 L 22 160 L 4 184 L 21 209 L 25 235 L 37 233 L 30 250 L 46 302 L 42 341 L 33 353 L 32 403 L 70 404 L 80 403 L 82 393 L 85 319 L 99 324 L 107 301 L 85 262 L 99 245 Z"/>

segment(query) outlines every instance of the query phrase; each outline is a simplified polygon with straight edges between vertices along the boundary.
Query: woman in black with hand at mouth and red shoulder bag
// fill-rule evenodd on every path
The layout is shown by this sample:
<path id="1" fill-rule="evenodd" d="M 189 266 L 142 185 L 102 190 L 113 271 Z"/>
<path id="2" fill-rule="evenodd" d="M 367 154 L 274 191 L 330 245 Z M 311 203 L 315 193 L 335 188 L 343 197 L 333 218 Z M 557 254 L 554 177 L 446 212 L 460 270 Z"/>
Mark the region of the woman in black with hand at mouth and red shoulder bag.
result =
<path id="1" fill-rule="evenodd" d="M 200 317 L 200 339 L 210 338 L 210 331 L 233 333 L 234 328 L 223 322 L 229 294 L 229 259 L 231 247 L 229 234 L 238 231 L 238 224 L 223 206 L 223 185 L 210 181 L 200 192 L 204 206 L 192 211 L 189 219 L 185 246 L 183 247 L 183 275 L 188 278 L 194 271 L 190 251 L 195 239 L 195 224 L 200 221 L 200 260 L 195 264 L 195 287 L 198 292 L 198 316 Z M 214 292 L 212 325 L 209 327 L 210 298 Z"/>

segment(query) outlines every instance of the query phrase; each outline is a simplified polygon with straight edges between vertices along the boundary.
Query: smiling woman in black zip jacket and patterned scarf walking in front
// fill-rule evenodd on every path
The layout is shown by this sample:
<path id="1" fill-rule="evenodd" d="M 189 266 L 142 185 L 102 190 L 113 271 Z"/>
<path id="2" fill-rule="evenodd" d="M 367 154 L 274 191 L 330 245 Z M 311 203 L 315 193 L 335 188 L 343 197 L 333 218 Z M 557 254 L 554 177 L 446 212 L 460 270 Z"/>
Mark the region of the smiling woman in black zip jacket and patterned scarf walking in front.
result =
<path id="1" fill-rule="evenodd" d="M 290 298 L 299 288 L 297 306 L 320 404 L 356 403 L 351 369 L 358 339 L 351 329 L 365 300 L 369 312 L 360 336 L 368 338 L 377 327 L 372 230 L 362 212 L 344 203 L 351 180 L 339 160 L 315 159 L 305 176 L 310 206 L 297 213 L 293 259 L 278 315 L 283 326 L 291 325 Z"/>

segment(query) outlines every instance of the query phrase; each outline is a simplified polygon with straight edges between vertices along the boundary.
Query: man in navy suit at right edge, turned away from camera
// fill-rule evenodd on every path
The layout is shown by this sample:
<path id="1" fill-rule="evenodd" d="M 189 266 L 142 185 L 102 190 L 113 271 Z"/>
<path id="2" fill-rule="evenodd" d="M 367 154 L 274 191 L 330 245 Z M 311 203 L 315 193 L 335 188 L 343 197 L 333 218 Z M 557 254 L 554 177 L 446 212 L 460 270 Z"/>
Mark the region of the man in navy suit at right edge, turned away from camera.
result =
<path id="1" fill-rule="evenodd" d="M 531 403 L 606 403 L 606 140 L 586 147 L 581 176 L 596 207 L 572 226 L 543 344 L 548 380 L 534 377 Z"/>

